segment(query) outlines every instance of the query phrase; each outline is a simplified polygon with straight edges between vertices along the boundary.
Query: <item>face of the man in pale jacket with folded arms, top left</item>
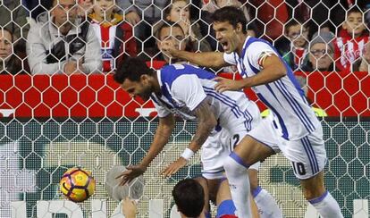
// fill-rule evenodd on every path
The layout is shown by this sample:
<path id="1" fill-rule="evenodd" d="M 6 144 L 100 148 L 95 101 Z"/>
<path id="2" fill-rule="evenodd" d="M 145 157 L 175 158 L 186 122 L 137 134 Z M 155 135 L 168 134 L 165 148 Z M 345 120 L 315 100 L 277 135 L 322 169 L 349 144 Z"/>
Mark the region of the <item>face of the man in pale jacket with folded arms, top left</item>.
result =
<path id="1" fill-rule="evenodd" d="M 55 17 L 55 24 L 62 26 L 66 22 L 73 23 L 77 17 L 76 0 L 55 0 L 52 14 Z"/>

